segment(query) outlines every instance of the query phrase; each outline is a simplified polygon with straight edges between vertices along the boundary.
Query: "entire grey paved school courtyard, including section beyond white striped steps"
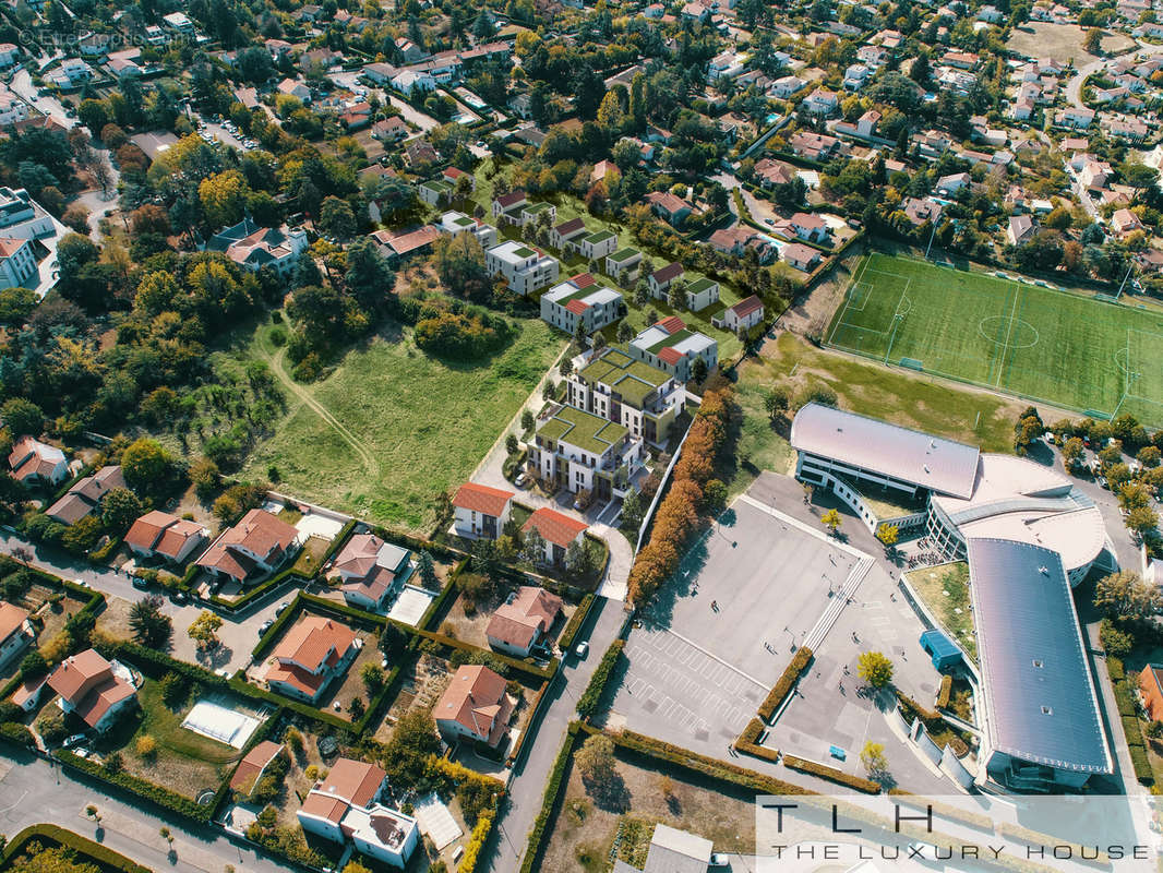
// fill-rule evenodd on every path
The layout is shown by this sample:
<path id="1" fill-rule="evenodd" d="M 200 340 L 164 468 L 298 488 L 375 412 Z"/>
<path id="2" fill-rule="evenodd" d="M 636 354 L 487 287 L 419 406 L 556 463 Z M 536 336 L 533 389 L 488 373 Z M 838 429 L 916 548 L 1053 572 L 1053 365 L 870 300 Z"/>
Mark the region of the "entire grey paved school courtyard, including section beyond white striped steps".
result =
<path id="1" fill-rule="evenodd" d="M 949 792 L 952 783 L 891 721 L 891 693 L 856 694 L 863 684 L 857 659 L 868 650 L 889 655 L 896 686 L 926 705 L 940 675 L 920 647 L 923 625 L 898 591 L 897 568 L 851 514 L 846 542 L 828 537 L 819 521 L 825 509 L 805 505 L 799 484 L 775 474 L 737 499 L 630 632 L 609 724 L 728 758 L 808 640 L 815 658 L 765 745 L 863 775 L 864 743 L 883 743 L 900 785 Z M 830 758 L 832 746 L 844 750 L 846 760 Z M 795 774 L 793 781 L 809 779 Z"/>

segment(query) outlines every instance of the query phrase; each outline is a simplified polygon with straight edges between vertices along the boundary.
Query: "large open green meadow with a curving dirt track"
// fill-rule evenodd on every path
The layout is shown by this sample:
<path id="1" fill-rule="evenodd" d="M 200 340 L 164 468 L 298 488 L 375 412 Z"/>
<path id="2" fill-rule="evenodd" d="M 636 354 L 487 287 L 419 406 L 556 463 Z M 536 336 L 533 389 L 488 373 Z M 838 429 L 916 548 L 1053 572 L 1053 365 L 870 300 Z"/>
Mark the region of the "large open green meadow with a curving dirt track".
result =
<path id="1" fill-rule="evenodd" d="M 309 385 L 290 383 L 271 327 L 259 327 L 250 355 L 286 376 L 288 409 L 242 476 L 265 480 L 273 466 L 283 491 L 430 533 L 436 496 L 468 478 L 565 345 L 540 319 L 520 327 L 493 357 L 451 363 L 391 326 Z"/>

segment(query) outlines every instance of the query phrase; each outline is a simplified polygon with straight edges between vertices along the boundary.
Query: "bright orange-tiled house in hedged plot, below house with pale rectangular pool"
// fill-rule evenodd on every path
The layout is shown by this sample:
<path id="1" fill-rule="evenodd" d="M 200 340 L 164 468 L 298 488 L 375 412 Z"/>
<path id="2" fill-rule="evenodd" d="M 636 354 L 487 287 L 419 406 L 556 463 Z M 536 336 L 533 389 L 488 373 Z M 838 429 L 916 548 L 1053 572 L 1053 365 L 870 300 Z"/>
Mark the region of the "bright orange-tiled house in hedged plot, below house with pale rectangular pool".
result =
<path id="1" fill-rule="evenodd" d="M 279 640 L 266 672 L 272 691 L 316 703 L 330 681 L 347 670 L 359 650 L 344 624 L 323 616 L 304 616 Z"/>

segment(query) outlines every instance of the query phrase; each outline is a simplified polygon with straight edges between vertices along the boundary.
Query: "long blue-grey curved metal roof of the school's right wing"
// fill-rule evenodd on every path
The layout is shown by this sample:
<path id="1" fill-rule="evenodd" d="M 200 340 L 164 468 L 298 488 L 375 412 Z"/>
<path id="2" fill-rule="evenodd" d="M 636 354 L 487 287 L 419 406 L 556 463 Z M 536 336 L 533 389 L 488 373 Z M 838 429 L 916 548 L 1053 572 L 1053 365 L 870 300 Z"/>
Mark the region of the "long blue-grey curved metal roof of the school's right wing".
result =
<path id="1" fill-rule="evenodd" d="M 966 545 L 990 745 L 1059 769 L 1110 773 L 1111 753 L 1058 553 L 1001 539 Z"/>

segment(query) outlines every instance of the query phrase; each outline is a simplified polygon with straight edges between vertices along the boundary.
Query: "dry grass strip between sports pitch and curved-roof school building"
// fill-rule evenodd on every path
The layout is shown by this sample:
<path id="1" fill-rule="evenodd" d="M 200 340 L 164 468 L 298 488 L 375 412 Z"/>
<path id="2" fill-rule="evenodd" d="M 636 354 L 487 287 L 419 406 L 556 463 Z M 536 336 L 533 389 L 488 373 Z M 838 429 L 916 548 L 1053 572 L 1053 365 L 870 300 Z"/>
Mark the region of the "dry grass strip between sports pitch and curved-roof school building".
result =
<path id="1" fill-rule="evenodd" d="M 747 359 L 739 369 L 735 389 L 743 416 L 732 496 L 745 491 L 759 470 L 789 473 L 794 467 L 787 423 L 773 426 L 769 421 L 763 409 L 766 392 L 784 385 L 794 396 L 816 384 L 834 390 L 846 410 L 970 442 L 985 452 L 1013 448 L 1013 421 L 1021 411 L 1014 400 L 889 370 L 782 333 L 775 342 L 764 343 L 759 357 Z"/>

